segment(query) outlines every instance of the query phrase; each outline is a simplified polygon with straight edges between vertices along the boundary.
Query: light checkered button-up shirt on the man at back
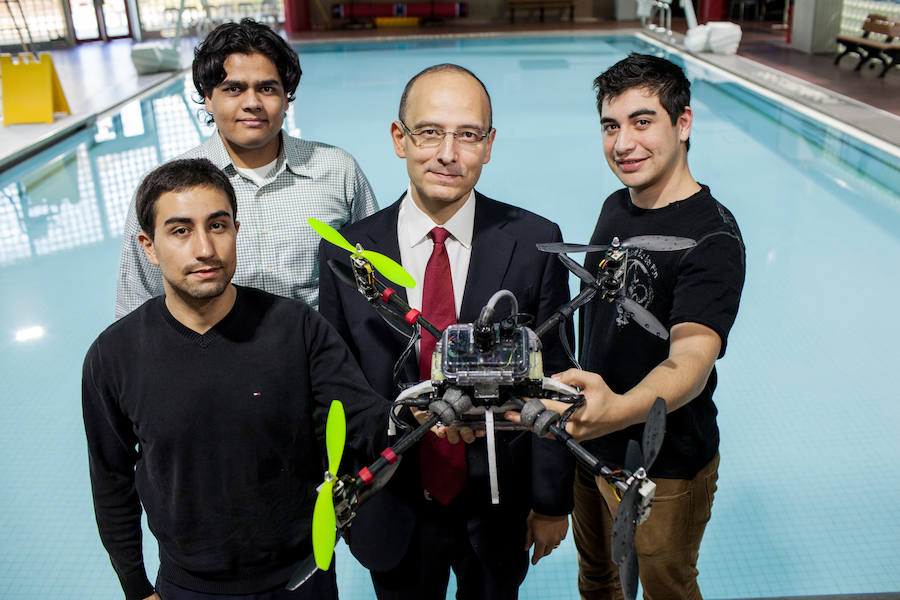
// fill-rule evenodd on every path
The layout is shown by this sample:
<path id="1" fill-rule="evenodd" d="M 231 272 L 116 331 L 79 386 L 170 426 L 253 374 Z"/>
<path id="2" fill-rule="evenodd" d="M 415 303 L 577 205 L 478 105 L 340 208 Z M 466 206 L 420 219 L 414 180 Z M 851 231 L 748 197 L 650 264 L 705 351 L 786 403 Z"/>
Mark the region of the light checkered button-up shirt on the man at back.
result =
<path id="1" fill-rule="evenodd" d="M 238 173 L 218 132 L 179 158 L 208 158 L 222 169 L 237 196 L 237 271 L 233 282 L 319 303 L 319 236 L 309 217 L 340 229 L 378 209 L 369 181 L 344 150 L 282 132 L 283 153 L 262 186 Z M 159 267 L 137 239 L 132 200 L 125 221 L 116 285 L 116 319 L 163 293 Z"/>

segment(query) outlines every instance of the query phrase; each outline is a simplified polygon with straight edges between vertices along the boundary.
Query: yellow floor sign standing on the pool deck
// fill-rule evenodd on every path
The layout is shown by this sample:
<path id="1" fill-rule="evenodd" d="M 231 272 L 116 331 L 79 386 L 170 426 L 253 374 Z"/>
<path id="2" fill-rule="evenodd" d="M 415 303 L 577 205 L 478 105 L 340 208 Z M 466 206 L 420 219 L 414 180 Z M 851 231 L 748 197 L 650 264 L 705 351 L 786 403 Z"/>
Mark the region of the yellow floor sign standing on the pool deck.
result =
<path id="1" fill-rule="evenodd" d="M 41 54 L 39 61 L 25 53 L 15 61 L 8 54 L 0 56 L 0 80 L 3 125 L 52 123 L 55 112 L 72 114 L 49 54 Z"/>

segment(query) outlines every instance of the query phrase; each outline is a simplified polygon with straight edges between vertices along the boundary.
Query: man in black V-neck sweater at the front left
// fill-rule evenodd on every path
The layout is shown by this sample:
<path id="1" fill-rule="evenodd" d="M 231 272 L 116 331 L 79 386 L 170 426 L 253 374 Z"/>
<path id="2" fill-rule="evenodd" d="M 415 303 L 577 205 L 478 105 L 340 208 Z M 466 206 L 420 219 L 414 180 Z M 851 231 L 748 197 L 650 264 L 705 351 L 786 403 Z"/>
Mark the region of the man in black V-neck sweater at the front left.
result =
<path id="1" fill-rule="evenodd" d="M 348 445 L 375 456 L 386 403 L 316 311 L 231 284 L 236 200 L 212 163 L 151 172 L 137 211 L 165 295 L 100 334 L 82 388 L 97 524 L 126 599 L 337 598 L 333 569 L 283 589 L 312 549 L 313 410 L 341 401 Z M 159 541 L 156 589 L 142 504 Z"/>

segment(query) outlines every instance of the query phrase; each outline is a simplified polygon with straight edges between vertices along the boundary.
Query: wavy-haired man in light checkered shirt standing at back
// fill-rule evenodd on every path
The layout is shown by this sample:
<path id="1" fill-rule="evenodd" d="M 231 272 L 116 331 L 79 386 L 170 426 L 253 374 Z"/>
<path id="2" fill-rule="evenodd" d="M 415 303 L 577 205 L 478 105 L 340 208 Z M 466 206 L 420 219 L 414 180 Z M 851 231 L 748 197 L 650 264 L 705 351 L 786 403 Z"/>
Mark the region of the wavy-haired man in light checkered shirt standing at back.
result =
<path id="1" fill-rule="evenodd" d="M 241 208 L 234 283 L 318 307 L 319 237 L 309 217 L 336 229 L 377 205 L 344 150 L 281 130 L 300 82 L 297 53 L 267 26 L 244 19 L 214 29 L 194 51 L 194 86 L 216 132 L 180 158 L 207 158 L 234 186 Z M 116 319 L 163 293 L 159 269 L 137 241 L 128 210 L 116 286 Z"/>

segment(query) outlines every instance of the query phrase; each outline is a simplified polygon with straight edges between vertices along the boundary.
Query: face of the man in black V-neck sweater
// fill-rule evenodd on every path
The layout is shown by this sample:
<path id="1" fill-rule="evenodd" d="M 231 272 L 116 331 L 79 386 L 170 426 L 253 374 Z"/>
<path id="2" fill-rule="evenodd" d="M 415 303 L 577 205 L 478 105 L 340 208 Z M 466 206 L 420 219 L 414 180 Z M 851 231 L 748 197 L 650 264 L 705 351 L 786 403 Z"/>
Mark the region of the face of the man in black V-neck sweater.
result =
<path id="1" fill-rule="evenodd" d="M 153 239 L 143 232 L 138 239 L 162 271 L 166 296 L 196 304 L 217 298 L 231 282 L 238 226 L 228 196 L 199 186 L 162 194 Z"/>

